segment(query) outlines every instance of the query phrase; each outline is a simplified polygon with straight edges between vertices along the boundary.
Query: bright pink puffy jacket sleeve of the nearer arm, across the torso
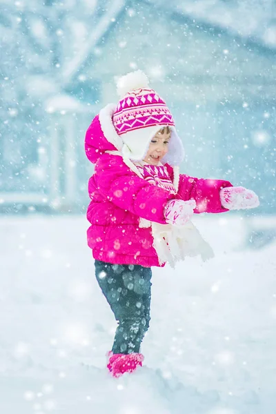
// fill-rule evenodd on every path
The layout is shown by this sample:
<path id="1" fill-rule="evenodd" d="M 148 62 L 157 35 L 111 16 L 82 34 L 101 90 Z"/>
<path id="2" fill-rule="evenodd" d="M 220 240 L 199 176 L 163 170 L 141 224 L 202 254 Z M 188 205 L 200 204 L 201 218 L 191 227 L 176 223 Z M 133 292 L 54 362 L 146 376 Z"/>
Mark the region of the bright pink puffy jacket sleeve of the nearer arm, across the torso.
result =
<path id="1" fill-rule="evenodd" d="M 180 199 L 138 177 L 121 157 L 104 154 L 95 166 L 95 185 L 103 197 L 135 215 L 166 224 L 164 206 L 170 199 Z"/>

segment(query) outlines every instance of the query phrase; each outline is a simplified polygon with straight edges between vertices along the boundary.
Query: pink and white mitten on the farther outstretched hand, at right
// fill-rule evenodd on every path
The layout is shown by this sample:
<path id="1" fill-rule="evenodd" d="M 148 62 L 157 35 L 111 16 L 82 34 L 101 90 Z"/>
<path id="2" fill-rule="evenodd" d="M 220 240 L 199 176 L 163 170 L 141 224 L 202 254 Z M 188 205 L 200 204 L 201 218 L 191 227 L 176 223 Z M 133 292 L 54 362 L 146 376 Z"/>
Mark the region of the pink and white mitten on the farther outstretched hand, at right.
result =
<path id="1" fill-rule="evenodd" d="M 259 206 L 259 198 L 252 190 L 244 187 L 226 187 L 219 193 L 221 206 L 228 210 L 240 210 Z"/>

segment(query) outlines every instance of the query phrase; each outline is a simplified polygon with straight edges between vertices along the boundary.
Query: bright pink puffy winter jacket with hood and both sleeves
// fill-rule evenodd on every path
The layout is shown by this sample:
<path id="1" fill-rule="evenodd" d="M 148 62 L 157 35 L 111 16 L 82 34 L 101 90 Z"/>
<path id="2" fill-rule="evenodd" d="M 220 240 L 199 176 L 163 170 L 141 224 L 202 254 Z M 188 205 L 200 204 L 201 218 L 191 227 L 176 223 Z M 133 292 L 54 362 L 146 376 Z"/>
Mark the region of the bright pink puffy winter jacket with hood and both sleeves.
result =
<path id="1" fill-rule="evenodd" d="M 116 150 L 105 137 L 99 115 L 86 132 L 85 150 L 95 164 L 89 180 L 90 204 L 87 218 L 88 246 L 95 259 L 113 264 L 160 266 L 152 246 L 151 228 L 140 228 L 139 218 L 166 224 L 164 206 L 170 199 L 195 199 L 195 213 L 221 213 L 219 190 L 232 186 L 229 181 L 197 179 L 180 175 L 178 194 L 149 184 L 132 172 L 122 157 L 106 151 Z M 166 164 L 173 180 L 173 169 Z"/>

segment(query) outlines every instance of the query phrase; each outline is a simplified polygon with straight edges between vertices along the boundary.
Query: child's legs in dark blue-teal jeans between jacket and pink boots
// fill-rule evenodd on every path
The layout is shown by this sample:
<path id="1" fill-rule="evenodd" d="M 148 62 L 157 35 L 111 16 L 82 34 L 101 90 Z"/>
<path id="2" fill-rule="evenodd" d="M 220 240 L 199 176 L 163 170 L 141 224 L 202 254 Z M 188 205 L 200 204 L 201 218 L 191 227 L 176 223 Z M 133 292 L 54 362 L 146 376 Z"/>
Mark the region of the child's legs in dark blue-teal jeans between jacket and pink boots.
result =
<path id="1" fill-rule="evenodd" d="M 150 322 L 150 268 L 95 260 L 99 286 L 119 322 L 113 353 L 139 353 Z"/>

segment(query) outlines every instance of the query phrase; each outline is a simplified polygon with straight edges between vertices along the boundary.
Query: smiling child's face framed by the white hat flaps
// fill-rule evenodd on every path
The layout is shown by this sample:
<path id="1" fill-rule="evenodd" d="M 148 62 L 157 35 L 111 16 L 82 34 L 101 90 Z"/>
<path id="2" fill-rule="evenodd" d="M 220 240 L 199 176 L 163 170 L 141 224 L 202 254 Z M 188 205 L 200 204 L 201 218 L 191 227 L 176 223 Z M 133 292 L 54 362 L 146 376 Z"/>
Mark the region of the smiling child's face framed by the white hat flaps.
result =
<path id="1" fill-rule="evenodd" d="M 170 140 L 170 130 L 168 127 L 161 128 L 150 141 L 148 152 L 143 161 L 157 166 L 161 159 L 168 152 L 168 141 Z"/>

